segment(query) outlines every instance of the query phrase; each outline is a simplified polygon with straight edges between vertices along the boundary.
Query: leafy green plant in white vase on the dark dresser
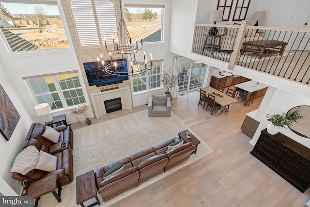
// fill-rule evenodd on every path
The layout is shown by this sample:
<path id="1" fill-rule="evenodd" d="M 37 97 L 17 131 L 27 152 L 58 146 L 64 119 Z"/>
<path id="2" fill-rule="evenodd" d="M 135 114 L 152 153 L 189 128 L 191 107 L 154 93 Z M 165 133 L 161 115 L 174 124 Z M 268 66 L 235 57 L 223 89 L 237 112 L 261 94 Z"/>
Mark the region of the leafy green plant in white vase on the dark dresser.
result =
<path id="1" fill-rule="evenodd" d="M 302 115 L 300 115 L 300 112 L 298 110 L 293 111 L 292 113 L 282 113 L 281 115 L 279 113 L 277 114 L 267 114 L 267 121 L 270 123 L 267 125 L 267 131 L 269 134 L 277 134 L 281 127 L 286 128 L 286 126 L 291 126 L 294 122 L 297 122 L 298 119 L 303 118 Z"/>

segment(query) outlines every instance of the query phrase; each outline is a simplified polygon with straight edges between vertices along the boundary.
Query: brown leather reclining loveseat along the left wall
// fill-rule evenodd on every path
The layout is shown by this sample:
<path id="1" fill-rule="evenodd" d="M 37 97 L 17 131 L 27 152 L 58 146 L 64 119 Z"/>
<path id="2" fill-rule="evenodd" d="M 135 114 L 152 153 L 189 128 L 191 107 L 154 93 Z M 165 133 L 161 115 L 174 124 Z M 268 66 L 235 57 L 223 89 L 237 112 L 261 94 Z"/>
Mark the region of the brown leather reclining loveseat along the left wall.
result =
<path id="1" fill-rule="evenodd" d="M 60 132 L 58 143 L 53 143 L 42 135 L 45 131 L 45 126 L 40 123 L 33 123 L 26 137 L 23 150 L 30 145 L 34 145 L 39 151 L 42 150 L 57 157 L 57 168 L 53 172 L 33 169 L 26 175 L 12 173 L 12 178 L 29 183 L 47 177 L 52 174 L 57 174 L 58 183 L 63 186 L 73 181 L 73 132 L 66 125 L 61 125 L 54 128 Z"/>

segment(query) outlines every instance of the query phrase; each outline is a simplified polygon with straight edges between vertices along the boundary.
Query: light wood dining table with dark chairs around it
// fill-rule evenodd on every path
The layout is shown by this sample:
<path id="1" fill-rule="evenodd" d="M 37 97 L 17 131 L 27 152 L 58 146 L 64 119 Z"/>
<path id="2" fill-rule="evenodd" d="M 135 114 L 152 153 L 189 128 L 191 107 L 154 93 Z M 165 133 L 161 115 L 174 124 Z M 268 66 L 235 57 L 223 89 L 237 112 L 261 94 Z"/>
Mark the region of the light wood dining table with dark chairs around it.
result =
<path id="1" fill-rule="evenodd" d="M 229 110 L 228 110 L 227 106 L 229 106 L 230 104 L 233 104 L 235 102 L 238 102 L 237 99 L 235 99 L 231 96 L 228 96 L 225 93 L 220 92 L 215 88 L 212 88 L 211 86 L 202 88 L 202 90 L 204 90 L 206 92 L 206 96 L 208 96 L 208 94 L 215 96 L 216 97 L 215 102 L 217 102 L 221 106 L 221 108 L 217 111 L 217 113 L 215 115 L 219 115 L 223 110 L 228 112 Z M 214 93 L 220 94 L 222 96 L 217 96 Z"/>

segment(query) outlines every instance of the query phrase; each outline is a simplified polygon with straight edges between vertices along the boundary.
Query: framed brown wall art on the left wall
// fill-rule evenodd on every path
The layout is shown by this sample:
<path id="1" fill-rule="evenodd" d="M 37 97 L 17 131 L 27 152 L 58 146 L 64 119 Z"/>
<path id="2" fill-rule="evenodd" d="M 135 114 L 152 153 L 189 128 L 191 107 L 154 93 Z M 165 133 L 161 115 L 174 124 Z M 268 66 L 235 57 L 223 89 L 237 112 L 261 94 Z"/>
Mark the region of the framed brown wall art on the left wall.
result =
<path id="1" fill-rule="evenodd" d="M 6 141 L 10 140 L 19 118 L 19 113 L 0 84 L 0 132 Z"/>

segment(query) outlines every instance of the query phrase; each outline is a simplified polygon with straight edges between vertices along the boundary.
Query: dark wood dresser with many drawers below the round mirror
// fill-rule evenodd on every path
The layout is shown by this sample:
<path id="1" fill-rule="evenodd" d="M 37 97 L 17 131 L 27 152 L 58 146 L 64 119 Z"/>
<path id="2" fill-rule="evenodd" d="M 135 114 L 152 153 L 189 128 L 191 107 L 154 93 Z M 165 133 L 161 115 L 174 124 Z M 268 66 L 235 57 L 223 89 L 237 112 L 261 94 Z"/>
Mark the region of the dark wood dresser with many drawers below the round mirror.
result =
<path id="1" fill-rule="evenodd" d="M 310 149 L 281 133 L 261 132 L 250 153 L 299 191 L 306 191 L 310 186 Z"/>

